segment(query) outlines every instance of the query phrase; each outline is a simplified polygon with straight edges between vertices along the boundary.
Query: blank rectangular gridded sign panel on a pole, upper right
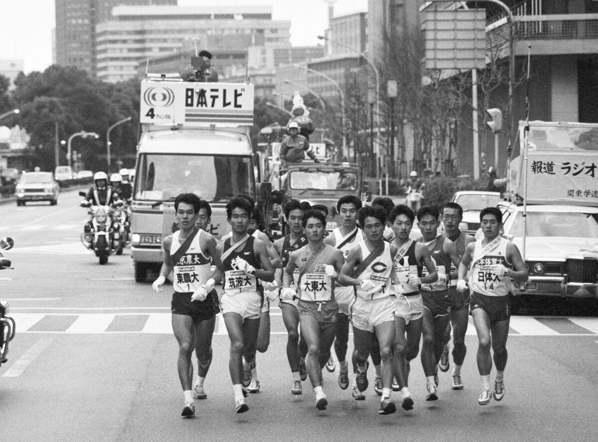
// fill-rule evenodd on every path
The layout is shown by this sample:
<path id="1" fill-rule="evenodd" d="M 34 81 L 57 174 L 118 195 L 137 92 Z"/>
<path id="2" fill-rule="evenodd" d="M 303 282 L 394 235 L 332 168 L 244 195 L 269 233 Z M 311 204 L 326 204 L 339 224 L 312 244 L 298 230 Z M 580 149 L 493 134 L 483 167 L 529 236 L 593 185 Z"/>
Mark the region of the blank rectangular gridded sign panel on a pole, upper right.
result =
<path id="1" fill-rule="evenodd" d="M 425 11 L 426 69 L 486 67 L 486 10 Z"/>

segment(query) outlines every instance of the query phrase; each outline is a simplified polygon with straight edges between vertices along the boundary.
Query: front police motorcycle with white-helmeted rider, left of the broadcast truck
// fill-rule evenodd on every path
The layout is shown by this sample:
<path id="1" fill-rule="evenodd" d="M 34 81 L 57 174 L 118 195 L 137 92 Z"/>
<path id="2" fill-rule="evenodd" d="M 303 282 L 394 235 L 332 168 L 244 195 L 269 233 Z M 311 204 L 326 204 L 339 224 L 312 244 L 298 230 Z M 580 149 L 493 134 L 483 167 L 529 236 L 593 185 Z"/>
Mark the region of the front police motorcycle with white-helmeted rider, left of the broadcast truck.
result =
<path id="1" fill-rule="evenodd" d="M 108 176 L 103 172 L 97 172 L 94 175 L 94 181 L 96 181 L 96 187 L 98 181 L 108 181 Z M 99 196 L 97 194 L 97 188 L 93 188 L 93 199 L 95 202 L 99 202 Z M 111 199 L 112 188 L 106 190 L 106 201 Z M 120 224 L 120 218 L 117 216 L 115 209 L 122 207 L 123 202 L 118 200 L 112 206 L 109 205 L 92 205 L 89 198 L 89 194 L 85 192 L 79 192 L 80 196 L 85 199 L 81 202 L 81 207 L 89 208 L 89 215 L 91 215 L 90 221 L 84 227 L 83 233 L 81 233 L 81 242 L 87 249 L 93 251 L 96 257 L 99 258 L 100 264 L 106 264 L 108 262 L 109 255 L 116 253 L 119 249 L 122 253 L 124 246 L 124 237 L 121 233 L 123 228 Z"/>

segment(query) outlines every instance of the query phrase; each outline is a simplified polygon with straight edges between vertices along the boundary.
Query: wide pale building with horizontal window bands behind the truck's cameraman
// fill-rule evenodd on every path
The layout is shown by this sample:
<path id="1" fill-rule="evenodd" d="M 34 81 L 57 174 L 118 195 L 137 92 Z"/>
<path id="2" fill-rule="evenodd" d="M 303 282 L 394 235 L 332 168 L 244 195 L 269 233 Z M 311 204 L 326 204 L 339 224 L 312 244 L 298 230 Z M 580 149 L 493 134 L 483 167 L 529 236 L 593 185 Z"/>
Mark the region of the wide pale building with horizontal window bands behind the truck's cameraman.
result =
<path id="1" fill-rule="evenodd" d="M 176 62 L 183 56 L 188 64 L 196 44 L 213 53 L 212 65 L 221 72 L 245 66 L 250 46 L 291 46 L 291 22 L 272 20 L 269 6 L 121 6 L 112 14 L 112 20 L 96 27 L 97 77 L 105 81 L 136 77 L 138 66 L 147 62 Z M 162 65 L 160 71 L 180 67 Z"/>

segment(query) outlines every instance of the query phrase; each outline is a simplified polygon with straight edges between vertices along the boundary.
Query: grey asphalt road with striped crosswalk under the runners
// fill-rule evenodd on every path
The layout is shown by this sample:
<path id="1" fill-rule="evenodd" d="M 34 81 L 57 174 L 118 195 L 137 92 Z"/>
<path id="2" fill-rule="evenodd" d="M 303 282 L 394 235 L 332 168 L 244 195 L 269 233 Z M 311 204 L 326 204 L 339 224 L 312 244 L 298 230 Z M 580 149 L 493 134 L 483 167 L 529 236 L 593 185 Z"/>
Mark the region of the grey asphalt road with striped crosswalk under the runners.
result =
<path id="1" fill-rule="evenodd" d="M 219 320 L 208 399 L 196 400 L 196 417 L 182 419 L 169 292 L 135 283 L 128 250 L 97 263 L 78 239 L 87 218 L 79 199 L 68 191 L 57 206 L 0 206 L 0 236 L 16 243 L 5 252 L 15 270 L 0 273 L 0 297 L 17 321 L 0 367 L 0 440 L 596 440 L 598 320 L 591 317 L 514 316 L 506 394 L 485 407 L 477 404 L 470 325 L 465 389 L 451 391 L 450 373 L 440 373 L 440 400 L 427 403 L 417 359 L 415 408 L 390 416 L 377 414 L 371 387 L 366 401 L 354 401 L 338 388 L 337 373 L 324 373 L 328 410 L 316 410 L 308 382 L 292 396 L 279 309 L 271 312 L 270 348 L 257 358 L 261 392 L 250 395 L 247 413 L 235 414 Z"/>

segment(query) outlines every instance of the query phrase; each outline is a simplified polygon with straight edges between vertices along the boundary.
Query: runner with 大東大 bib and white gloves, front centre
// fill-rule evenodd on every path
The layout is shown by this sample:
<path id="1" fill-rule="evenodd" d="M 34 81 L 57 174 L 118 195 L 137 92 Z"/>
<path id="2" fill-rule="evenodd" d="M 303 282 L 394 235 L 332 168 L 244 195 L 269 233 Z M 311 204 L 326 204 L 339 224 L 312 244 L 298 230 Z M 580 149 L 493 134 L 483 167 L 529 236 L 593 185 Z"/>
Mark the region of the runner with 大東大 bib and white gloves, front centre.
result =
<path id="1" fill-rule="evenodd" d="M 328 398 L 322 389 L 322 368 L 330 357 L 336 333 L 338 304 L 334 280 L 343 267 L 343 252 L 324 243 L 326 217 L 319 211 L 305 212 L 301 220 L 307 245 L 292 252 L 283 273 L 282 300 L 298 297 L 301 334 L 307 343 L 307 374 L 316 394 L 316 408 L 325 410 Z M 291 288 L 293 273 L 299 270 L 297 288 Z"/>

